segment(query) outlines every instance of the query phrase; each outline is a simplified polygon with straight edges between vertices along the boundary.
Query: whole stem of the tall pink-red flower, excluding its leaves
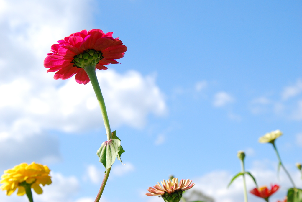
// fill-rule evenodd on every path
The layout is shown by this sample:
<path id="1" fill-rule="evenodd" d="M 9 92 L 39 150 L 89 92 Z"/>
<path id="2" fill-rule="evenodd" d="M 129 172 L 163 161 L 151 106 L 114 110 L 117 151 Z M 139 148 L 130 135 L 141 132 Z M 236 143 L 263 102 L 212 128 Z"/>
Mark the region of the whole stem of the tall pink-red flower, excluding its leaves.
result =
<path id="1" fill-rule="evenodd" d="M 105 124 L 105 129 L 106 129 L 106 135 L 107 135 L 107 140 L 112 139 L 112 133 L 111 133 L 111 129 L 110 129 L 110 125 L 109 125 L 109 120 L 108 120 L 108 115 L 107 115 L 107 110 L 106 110 L 106 106 L 105 106 L 105 101 L 101 92 L 101 88 L 100 85 L 98 83 L 98 78 L 96 76 L 95 73 L 95 66 L 93 65 L 88 65 L 84 67 L 85 72 L 87 73 L 90 82 L 92 84 L 93 90 L 95 91 L 95 95 L 96 98 L 98 99 L 98 104 L 101 107 L 101 112 L 102 112 L 102 117 L 104 120 L 104 124 Z M 106 171 L 103 182 L 101 184 L 101 188 L 98 191 L 98 195 L 95 199 L 95 202 L 98 202 L 103 194 L 105 185 L 107 183 L 108 177 L 109 177 L 109 173 L 110 173 L 111 167 Z"/>

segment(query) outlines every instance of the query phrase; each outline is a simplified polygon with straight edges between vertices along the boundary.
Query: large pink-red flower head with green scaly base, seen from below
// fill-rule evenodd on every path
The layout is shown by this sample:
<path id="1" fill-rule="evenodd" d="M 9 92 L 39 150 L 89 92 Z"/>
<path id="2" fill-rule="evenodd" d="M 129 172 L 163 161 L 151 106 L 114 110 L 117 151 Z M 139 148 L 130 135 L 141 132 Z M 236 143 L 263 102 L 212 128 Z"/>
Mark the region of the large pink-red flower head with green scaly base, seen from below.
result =
<path id="1" fill-rule="evenodd" d="M 54 79 L 69 79 L 76 74 L 79 84 L 87 84 L 90 80 L 83 66 L 89 63 L 96 65 L 95 69 L 107 69 L 104 65 L 117 64 L 115 59 L 124 57 L 127 51 L 121 40 L 112 38 L 112 33 L 93 29 L 70 34 L 51 46 L 44 67 L 50 68 L 47 72 L 57 71 Z"/>

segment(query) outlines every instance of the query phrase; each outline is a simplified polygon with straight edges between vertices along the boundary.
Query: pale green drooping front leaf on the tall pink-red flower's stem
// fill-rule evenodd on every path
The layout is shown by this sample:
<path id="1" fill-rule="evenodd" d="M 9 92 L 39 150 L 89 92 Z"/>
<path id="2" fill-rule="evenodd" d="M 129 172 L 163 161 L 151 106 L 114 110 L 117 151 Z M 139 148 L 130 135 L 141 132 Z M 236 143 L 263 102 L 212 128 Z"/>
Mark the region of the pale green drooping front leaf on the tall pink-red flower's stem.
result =
<path id="1" fill-rule="evenodd" d="M 100 149 L 98 149 L 97 155 L 100 161 L 106 168 L 106 171 L 111 168 L 115 158 L 120 152 L 120 140 L 110 139 L 102 143 Z M 119 157 L 118 157 L 119 158 Z"/>

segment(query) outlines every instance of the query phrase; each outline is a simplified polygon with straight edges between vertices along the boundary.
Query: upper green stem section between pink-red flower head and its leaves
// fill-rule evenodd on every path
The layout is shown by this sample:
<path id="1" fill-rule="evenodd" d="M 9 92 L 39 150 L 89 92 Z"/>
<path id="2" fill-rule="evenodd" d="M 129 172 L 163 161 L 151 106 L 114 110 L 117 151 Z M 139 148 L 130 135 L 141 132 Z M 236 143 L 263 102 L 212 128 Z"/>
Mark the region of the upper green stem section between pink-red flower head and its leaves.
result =
<path id="1" fill-rule="evenodd" d="M 102 116 L 103 116 L 103 120 L 104 120 L 104 124 L 105 124 L 105 128 L 106 128 L 107 140 L 110 140 L 110 139 L 112 139 L 111 129 L 110 129 L 110 125 L 109 125 L 105 101 L 104 101 L 104 98 L 103 98 L 103 95 L 101 92 L 100 85 L 98 83 L 98 78 L 96 77 L 95 66 L 93 66 L 93 65 L 85 66 L 84 70 L 90 79 L 93 90 L 95 91 L 96 98 L 98 99 L 98 104 L 101 107 L 101 112 L 102 112 Z"/>

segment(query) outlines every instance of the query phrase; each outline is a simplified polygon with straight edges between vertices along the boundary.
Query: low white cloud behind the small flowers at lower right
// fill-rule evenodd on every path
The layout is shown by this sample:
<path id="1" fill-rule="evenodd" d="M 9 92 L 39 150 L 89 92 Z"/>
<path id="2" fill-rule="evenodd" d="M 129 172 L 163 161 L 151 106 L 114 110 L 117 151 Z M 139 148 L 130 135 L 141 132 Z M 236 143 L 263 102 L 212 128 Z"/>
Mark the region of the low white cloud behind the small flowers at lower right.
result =
<path id="1" fill-rule="evenodd" d="M 277 201 L 284 198 L 286 195 L 286 188 L 291 187 L 290 181 L 287 176 L 281 170 L 280 181 L 277 179 L 276 170 L 267 168 L 257 168 L 257 164 L 261 164 L 262 167 L 265 162 L 255 162 L 253 169 L 249 170 L 252 175 L 255 176 L 259 186 L 270 186 L 271 183 L 281 185 L 279 191 L 271 196 L 270 201 Z M 277 165 L 275 165 L 277 166 Z M 256 169 L 257 168 L 257 169 Z M 295 171 L 291 172 L 293 179 L 298 187 L 302 186 L 300 179 L 300 173 Z M 215 201 L 219 202 L 242 202 L 243 201 L 243 181 L 242 177 L 237 178 L 231 184 L 230 188 L 227 188 L 227 184 L 230 182 L 233 175 L 226 171 L 214 171 L 203 175 L 200 178 L 193 179 L 196 184 L 192 190 L 201 190 L 204 194 L 213 197 Z M 248 192 L 255 188 L 255 184 L 246 176 L 247 190 Z M 261 199 L 248 193 L 250 202 L 260 201 Z"/>

